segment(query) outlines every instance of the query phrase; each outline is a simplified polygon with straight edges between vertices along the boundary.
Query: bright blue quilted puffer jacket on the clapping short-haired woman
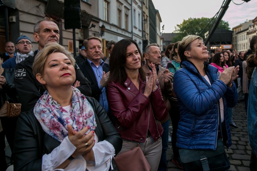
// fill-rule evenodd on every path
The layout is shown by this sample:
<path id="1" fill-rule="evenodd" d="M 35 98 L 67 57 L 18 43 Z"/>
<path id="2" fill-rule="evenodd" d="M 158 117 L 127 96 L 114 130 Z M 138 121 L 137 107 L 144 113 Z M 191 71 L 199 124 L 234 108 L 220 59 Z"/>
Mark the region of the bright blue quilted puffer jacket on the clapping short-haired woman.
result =
<path id="1" fill-rule="evenodd" d="M 177 95 L 180 120 L 177 130 L 178 148 L 216 150 L 219 115 L 219 99 L 224 100 L 224 115 L 227 128 L 227 148 L 231 146 L 231 135 L 227 107 L 236 105 L 236 85 L 228 87 L 219 80 L 218 69 L 205 63 L 213 79 L 210 85 L 190 61 L 182 61 L 181 69 L 175 72 L 173 89 Z"/>

